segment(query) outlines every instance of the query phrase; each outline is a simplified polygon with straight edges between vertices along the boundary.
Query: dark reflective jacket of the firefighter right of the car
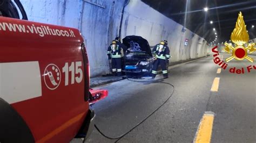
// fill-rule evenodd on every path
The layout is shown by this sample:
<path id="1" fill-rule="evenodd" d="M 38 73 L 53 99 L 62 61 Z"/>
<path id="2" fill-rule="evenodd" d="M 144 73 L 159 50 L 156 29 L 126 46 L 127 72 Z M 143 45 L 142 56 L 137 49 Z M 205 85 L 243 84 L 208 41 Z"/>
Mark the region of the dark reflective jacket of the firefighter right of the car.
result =
<path id="1" fill-rule="evenodd" d="M 154 46 L 153 55 L 157 59 L 169 60 L 170 59 L 170 49 L 168 46 L 164 46 L 163 49 L 160 49 L 160 44 Z"/>

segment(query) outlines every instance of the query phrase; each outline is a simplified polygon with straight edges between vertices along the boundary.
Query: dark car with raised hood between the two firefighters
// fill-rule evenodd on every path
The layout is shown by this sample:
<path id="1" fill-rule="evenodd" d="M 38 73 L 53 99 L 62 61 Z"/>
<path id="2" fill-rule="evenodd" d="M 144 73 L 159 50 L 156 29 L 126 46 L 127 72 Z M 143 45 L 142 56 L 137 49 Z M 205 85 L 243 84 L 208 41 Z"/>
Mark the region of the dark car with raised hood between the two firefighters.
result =
<path id="1" fill-rule="evenodd" d="M 123 44 L 127 47 L 123 57 L 125 74 L 132 77 L 149 76 L 154 62 L 149 42 L 140 36 L 130 35 L 123 39 Z"/>

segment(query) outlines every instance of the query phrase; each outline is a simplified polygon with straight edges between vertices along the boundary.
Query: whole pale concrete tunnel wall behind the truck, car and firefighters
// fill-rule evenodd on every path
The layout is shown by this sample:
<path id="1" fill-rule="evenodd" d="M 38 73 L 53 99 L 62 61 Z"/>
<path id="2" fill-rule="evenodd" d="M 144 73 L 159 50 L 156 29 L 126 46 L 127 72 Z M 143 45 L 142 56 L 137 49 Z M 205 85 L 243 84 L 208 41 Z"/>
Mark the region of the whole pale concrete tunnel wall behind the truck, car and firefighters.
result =
<path id="1" fill-rule="evenodd" d="M 106 50 L 118 35 L 124 0 L 21 0 L 31 21 L 75 27 L 89 54 L 91 77 L 110 72 Z M 194 59 L 210 52 L 207 42 L 145 3 L 130 0 L 124 12 L 122 38 L 140 35 L 151 46 L 168 40 L 171 62 Z M 185 46 L 185 39 L 188 45 Z"/>

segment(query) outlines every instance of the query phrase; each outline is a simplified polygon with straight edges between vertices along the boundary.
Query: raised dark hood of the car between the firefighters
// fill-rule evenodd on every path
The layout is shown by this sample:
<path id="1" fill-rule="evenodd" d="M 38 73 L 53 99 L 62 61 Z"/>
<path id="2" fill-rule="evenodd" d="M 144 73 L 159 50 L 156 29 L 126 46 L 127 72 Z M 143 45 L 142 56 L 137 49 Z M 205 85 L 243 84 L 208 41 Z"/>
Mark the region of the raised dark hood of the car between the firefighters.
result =
<path id="1" fill-rule="evenodd" d="M 140 36 L 137 36 L 137 35 L 126 36 L 123 39 L 123 44 L 131 52 L 146 52 L 147 54 L 152 56 L 149 42 L 147 42 L 146 39 Z"/>

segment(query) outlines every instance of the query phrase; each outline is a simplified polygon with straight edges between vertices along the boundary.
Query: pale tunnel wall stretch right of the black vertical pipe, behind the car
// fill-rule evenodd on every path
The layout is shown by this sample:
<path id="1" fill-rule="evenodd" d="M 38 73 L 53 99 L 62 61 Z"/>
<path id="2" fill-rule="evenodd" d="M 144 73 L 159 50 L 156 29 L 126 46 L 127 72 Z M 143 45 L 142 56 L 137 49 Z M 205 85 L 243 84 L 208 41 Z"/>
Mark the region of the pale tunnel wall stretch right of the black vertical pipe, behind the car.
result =
<path id="1" fill-rule="evenodd" d="M 166 39 L 171 48 L 172 62 L 205 56 L 207 42 L 190 30 L 181 32 L 182 29 L 182 25 L 141 1 L 132 0 L 125 8 L 122 37 L 141 35 L 151 46 Z M 185 39 L 189 41 L 187 46 L 184 45 Z"/>

